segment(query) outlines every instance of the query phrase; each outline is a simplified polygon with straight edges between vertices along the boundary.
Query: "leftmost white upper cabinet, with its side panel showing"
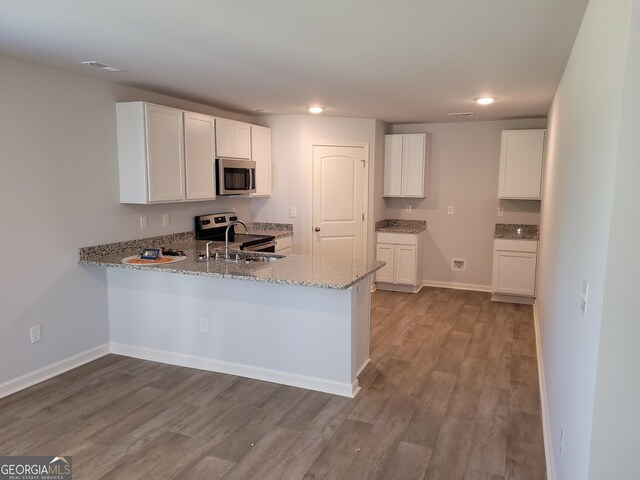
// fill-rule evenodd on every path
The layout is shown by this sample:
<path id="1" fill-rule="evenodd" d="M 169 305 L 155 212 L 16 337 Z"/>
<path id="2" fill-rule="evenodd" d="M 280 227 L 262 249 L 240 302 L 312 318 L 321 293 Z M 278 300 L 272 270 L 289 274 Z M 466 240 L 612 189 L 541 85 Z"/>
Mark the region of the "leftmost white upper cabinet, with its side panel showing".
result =
<path id="1" fill-rule="evenodd" d="M 120 202 L 185 199 L 182 110 L 144 102 L 116 105 Z"/>

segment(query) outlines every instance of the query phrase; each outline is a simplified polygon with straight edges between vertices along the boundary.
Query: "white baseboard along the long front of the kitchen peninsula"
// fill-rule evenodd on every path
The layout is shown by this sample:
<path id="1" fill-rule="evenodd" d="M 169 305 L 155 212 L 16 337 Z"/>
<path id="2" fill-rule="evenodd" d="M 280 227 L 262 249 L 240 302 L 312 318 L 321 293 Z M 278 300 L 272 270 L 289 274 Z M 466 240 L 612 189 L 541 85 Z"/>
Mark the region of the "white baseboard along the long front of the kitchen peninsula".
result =
<path id="1" fill-rule="evenodd" d="M 254 367 L 240 363 L 224 362 L 211 358 L 187 355 L 184 353 L 169 352 L 166 350 L 125 345 L 122 343 L 112 342 L 111 353 L 140 358 L 143 360 L 151 360 L 153 362 L 168 363 L 169 365 L 177 365 L 180 367 L 197 368 L 199 370 L 208 370 L 210 372 L 226 373 L 229 375 L 237 375 L 239 377 L 253 378 L 255 380 L 280 383 L 282 385 L 290 385 L 292 387 L 332 393 L 343 397 L 353 398 L 360 390 L 358 379 L 354 380 L 353 384 L 335 382 L 332 380 L 308 377 L 279 370 Z"/>

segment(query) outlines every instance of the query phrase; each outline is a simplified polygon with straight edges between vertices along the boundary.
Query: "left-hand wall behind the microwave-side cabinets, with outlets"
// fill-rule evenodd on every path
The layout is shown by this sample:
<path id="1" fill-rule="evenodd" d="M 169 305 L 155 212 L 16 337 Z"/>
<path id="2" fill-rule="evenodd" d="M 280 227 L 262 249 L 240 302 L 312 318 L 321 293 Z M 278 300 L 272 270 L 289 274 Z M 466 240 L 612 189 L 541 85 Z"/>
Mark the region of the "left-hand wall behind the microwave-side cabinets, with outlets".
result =
<path id="1" fill-rule="evenodd" d="M 105 271 L 77 265 L 78 247 L 192 230 L 194 215 L 231 206 L 251 216 L 248 199 L 121 205 L 115 103 L 132 100 L 250 120 L 0 57 L 0 384 L 108 341 Z"/>

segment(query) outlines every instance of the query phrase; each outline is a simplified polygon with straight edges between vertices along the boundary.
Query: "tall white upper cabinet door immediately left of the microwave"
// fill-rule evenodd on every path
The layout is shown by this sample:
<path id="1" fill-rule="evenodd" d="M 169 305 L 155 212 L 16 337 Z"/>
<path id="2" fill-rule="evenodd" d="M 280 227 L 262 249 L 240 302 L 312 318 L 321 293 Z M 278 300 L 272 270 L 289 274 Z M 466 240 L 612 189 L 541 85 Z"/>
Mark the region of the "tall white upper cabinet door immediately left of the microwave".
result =
<path id="1" fill-rule="evenodd" d="M 216 198 L 214 117 L 184 112 L 187 200 Z"/>

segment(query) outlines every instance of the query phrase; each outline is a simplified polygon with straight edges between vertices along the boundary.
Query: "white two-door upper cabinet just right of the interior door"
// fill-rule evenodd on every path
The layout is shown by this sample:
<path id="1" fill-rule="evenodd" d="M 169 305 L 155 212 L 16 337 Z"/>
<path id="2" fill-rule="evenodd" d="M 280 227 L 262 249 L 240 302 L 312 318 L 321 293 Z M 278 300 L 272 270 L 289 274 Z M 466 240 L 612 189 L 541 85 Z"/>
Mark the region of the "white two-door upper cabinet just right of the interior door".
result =
<path id="1" fill-rule="evenodd" d="M 383 195 L 424 198 L 427 135 L 385 135 L 384 139 Z"/>

